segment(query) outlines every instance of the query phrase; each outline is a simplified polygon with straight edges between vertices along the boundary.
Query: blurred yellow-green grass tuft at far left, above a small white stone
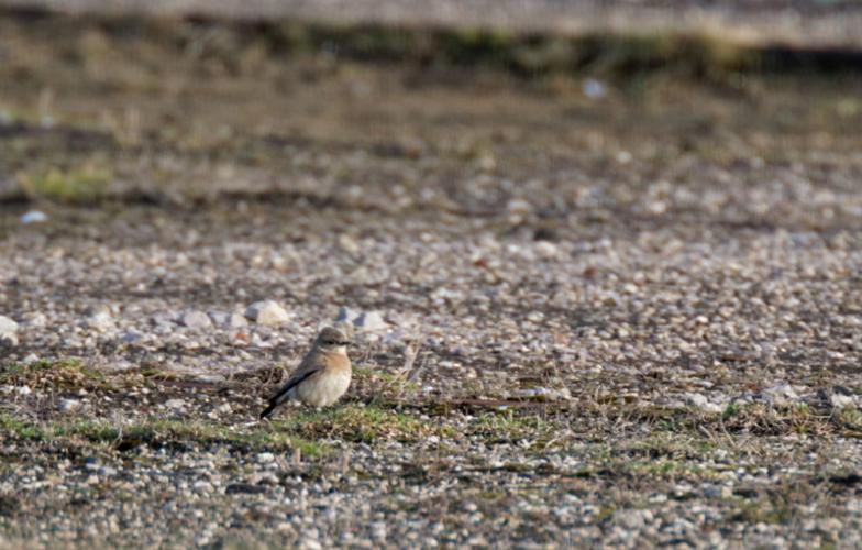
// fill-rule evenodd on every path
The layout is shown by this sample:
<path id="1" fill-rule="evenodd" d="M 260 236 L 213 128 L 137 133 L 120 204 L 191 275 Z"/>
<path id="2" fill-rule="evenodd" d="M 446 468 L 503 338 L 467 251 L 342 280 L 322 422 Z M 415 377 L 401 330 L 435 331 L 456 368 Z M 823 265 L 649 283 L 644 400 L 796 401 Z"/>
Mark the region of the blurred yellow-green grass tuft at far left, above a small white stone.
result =
<path id="1" fill-rule="evenodd" d="M 18 185 L 30 199 L 87 205 L 107 197 L 111 179 L 111 170 L 82 165 L 69 169 L 54 167 L 43 172 L 21 173 L 18 175 Z"/>

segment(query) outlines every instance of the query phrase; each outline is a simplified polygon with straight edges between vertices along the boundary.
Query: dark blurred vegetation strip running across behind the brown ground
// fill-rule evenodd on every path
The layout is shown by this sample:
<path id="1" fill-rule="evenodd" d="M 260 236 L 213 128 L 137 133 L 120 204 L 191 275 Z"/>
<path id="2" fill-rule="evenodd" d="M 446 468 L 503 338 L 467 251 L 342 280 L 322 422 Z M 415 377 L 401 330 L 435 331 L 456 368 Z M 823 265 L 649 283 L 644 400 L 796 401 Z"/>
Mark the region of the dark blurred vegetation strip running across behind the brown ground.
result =
<path id="1" fill-rule="evenodd" d="M 490 68 L 524 78 L 583 72 L 630 78 L 664 70 L 720 78 L 739 73 L 857 74 L 862 68 L 859 50 L 749 47 L 704 35 L 674 33 L 562 36 L 475 28 L 224 21 L 201 15 L 167 20 L 93 14 L 82 18 L 22 8 L 0 8 L 0 18 L 54 29 L 91 24 L 118 41 L 143 38 L 180 50 L 200 40 L 198 31 L 226 33 L 229 40 L 195 44 L 207 50 L 220 42 L 221 46 L 208 54 L 226 57 L 256 43 L 275 56 L 327 53 L 369 63 Z"/>

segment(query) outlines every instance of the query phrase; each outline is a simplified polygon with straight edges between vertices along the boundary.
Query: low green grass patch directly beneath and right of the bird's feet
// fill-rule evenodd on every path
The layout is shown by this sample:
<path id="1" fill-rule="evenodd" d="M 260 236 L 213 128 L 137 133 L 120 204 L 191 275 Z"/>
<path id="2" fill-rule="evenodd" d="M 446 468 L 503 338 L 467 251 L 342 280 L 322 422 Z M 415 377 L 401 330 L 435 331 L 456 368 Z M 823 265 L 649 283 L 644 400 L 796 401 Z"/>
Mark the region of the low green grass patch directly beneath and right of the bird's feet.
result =
<path id="1" fill-rule="evenodd" d="M 434 432 L 432 426 L 401 411 L 358 404 L 323 410 L 289 409 L 273 427 L 277 432 L 309 440 L 329 437 L 365 443 L 382 439 L 417 441 Z"/>

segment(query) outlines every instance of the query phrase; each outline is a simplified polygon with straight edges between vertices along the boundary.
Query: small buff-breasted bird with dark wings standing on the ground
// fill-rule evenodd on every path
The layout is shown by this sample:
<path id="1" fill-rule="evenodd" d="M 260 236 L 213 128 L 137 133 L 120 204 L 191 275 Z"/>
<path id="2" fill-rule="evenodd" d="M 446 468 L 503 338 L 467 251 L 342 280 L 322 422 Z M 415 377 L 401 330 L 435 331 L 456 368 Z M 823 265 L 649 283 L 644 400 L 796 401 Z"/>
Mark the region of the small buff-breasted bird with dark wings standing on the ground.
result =
<path id="1" fill-rule="evenodd" d="M 352 374 L 347 345 L 347 337 L 339 329 L 325 327 L 321 330 L 287 384 L 269 398 L 269 406 L 261 413 L 261 419 L 287 400 L 314 407 L 339 400 L 347 391 Z"/>

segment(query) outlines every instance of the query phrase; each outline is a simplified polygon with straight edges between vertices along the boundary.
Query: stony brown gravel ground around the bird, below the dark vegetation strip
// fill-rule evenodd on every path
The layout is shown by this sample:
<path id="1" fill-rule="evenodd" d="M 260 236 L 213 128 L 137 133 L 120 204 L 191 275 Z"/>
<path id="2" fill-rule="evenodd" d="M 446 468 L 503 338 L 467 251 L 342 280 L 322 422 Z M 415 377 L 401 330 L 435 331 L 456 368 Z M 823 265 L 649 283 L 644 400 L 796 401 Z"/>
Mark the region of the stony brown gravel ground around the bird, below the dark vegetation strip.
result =
<path id="1" fill-rule="evenodd" d="M 3 544 L 862 544 L 857 77 L 162 24 L 0 20 Z"/>

